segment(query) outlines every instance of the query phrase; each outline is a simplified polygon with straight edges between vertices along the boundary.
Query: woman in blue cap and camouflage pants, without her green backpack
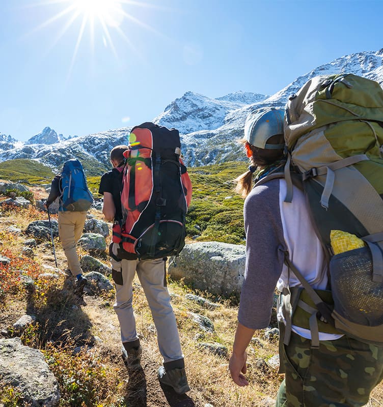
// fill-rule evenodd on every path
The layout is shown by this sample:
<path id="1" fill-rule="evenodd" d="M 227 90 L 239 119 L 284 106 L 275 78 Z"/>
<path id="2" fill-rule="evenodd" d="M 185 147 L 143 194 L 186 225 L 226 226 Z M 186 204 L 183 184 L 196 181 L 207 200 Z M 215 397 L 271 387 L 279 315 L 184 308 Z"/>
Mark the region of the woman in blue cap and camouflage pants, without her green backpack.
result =
<path id="1" fill-rule="evenodd" d="M 330 81 L 328 85 L 332 83 Z M 356 331 L 352 334 L 345 325 L 334 322 L 336 292 L 333 276 L 329 273 L 329 257 L 334 252 L 329 254 L 329 246 L 323 244 L 317 234 L 302 173 L 290 174 L 290 153 L 297 165 L 294 148 L 298 149 L 298 146 L 295 143 L 287 146 L 289 154 L 286 157 L 284 121 L 284 109 L 261 108 L 251 112 L 245 123 L 243 143 L 251 165 L 236 179 L 236 190 L 245 198 L 247 255 L 230 374 L 238 386 L 249 384 L 245 377 L 246 349 L 255 331 L 268 327 L 277 287 L 281 293 L 277 307 L 280 373 L 285 373 L 285 379 L 278 392 L 276 407 L 362 406 L 368 402 L 371 390 L 383 379 L 383 346 L 380 343 L 383 338 L 371 335 L 362 340 Z M 308 123 L 307 116 L 305 123 Z M 317 139 L 314 147 L 306 151 L 306 157 L 318 145 Z M 312 172 L 315 177 L 316 172 Z M 358 185 L 348 187 L 357 188 Z M 324 190 L 322 187 L 318 192 L 318 202 Z M 327 210 L 321 210 L 325 215 Z M 325 221 L 321 227 L 324 225 L 328 226 Z M 381 226 L 381 223 L 377 225 Z M 342 234 L 346 236 L 345 232 Z M 381 237 L 375 235 L 371 240 L 378 239 Z M 333 261 L 330 261 L 330 268 L 332 265 Z M 372 281 L 371 270 L 369 279 Z M 350 278 L 344 283 L 346 290 L 351 283 Z M 378 284 L 381 289 L 381 283 Z M 313 300 L 311 292 L 314 292 Z M 375 322 L 376 326 L 378 324 Z M 371 324 L 365 325 L 367 331 L 367 325 Z"/>

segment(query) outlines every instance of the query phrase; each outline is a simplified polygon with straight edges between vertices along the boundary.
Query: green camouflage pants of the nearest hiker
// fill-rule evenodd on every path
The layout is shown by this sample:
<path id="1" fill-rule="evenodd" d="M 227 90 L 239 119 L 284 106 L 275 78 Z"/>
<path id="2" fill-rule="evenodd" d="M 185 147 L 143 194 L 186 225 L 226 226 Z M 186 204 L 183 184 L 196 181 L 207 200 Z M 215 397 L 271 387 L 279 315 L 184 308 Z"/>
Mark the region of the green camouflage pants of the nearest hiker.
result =
<path id="1" fill-rule="evenodd" d="M 321 341 L 318 349 L 310 345 L 309 339 L 292 332 L 288 346 L 280 346 L 285 380 L 276 407 L 366 404 L 371 390 L 383 379 L 383 347 L 346 336 Z"/>

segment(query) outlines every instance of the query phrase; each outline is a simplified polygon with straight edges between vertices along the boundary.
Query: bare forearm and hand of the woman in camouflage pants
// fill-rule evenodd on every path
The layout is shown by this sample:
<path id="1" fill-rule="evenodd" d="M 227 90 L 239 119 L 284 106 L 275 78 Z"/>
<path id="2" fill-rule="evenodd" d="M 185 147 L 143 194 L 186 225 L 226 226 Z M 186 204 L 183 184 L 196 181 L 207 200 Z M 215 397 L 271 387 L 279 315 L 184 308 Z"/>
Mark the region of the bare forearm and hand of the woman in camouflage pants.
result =
<path id="1" fill-rule="evenodd" d="M 231 378 L 238 386 L 247 386 L 249 384 L 246 377 L 241 373 L 246 373 L 246 361 L 248 359 L 246 348 L 248 347 L 254 332 L 255 329 L 247 328 L 238 323 L 233 344 L 233 354 L 231 355 L 229 363 Z"/>

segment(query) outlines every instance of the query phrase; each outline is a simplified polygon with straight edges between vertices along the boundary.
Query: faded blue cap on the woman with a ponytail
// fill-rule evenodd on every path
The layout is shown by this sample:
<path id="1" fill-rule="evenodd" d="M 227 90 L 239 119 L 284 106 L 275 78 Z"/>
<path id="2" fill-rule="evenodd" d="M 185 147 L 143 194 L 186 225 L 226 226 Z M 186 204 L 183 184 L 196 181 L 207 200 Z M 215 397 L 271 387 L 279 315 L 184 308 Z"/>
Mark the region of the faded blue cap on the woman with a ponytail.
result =
<path id="1" fill-rule="evenodd" d="M 284 144 L 267 144 L 276 134 L 283 134 L 284 109 L 262 107 L 249 113 L 244 125 L 244 136 L 254 147 L 260 149 L 283 149 Z"/>

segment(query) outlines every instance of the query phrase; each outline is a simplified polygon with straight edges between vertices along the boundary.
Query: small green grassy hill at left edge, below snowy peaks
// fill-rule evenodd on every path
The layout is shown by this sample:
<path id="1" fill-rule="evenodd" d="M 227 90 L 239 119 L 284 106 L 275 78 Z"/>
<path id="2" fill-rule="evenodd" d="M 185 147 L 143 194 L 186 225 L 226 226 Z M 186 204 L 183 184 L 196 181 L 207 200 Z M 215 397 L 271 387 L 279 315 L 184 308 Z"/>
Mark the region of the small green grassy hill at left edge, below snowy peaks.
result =
<path id="1" fill-rule="evenodd" d="M 53 171 L 34 160 L 15 159 L 0 162 L 0 179 L 23 184 L 47 184 L 54 177 Z"/>

